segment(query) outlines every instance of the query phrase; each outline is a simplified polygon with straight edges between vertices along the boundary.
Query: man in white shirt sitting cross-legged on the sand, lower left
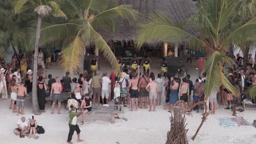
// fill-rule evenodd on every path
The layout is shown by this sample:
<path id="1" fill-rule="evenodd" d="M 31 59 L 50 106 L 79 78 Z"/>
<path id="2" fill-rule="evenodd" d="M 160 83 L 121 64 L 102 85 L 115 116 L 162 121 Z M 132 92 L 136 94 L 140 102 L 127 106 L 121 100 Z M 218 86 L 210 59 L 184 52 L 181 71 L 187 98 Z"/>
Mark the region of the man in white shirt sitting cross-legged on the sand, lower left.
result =
<path id="1" fill-rule="evenodd" d="M 14 129 L 13 132 L 16 135 L 20 135 L 20 137 L 24 137 L 28 133 L 28 122 L 25 117 L 21 117 L 21 119 L 18 120 L 18 128 Z"/>

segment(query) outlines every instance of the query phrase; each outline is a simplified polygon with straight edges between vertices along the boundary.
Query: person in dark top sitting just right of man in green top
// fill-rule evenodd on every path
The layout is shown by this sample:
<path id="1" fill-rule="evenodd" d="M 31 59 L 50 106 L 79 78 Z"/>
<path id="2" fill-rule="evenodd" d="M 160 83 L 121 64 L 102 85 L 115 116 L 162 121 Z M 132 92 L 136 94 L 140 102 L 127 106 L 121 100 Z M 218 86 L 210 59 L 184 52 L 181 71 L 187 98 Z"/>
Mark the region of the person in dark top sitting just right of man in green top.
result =
<path id="1" fill-rule="evenodd" d="M 85 113 L 88 113 L 91 111 L 92 107 L 92 99 L 90 98 L 90 95 L 88 93 L 84 94 L 84 99 L 82 100 L 81 104 L 81 110 L 83 111 L 83 119 L 82 119 L 82 124 L 84 124 L 84 119 L 85 119 Z"/>

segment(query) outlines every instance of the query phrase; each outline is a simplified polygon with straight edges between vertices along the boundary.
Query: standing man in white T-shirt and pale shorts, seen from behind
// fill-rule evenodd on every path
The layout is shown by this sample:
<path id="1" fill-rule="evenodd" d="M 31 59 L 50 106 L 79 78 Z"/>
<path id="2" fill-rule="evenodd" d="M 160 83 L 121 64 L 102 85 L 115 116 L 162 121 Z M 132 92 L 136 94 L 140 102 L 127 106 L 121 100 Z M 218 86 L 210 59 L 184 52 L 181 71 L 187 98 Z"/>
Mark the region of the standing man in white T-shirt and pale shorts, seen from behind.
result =
<path id="1" fill-rule="evenodd" d="M 107 72 L 103 73 L 102 77 L 102 86 L 101 86 L 101 98 L 102 98 L 102 104 L 104 103 L 104 97 L 107 99 L 107 103 L 110 101 L 109 97 L 109 88 L 108 86 L 111 84 L 111 81 L 109 77 L 107 77 Z"/>

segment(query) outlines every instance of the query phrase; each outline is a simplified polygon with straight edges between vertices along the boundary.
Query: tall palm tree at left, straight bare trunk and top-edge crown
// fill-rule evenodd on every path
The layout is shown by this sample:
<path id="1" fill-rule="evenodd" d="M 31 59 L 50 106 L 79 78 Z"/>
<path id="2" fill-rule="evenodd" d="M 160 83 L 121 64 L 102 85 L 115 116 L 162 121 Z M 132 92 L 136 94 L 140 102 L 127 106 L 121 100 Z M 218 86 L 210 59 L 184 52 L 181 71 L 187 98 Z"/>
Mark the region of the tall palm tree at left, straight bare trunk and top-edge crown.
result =
<path id="1" fill-rule="evenodd" d="M 33 87 L 32 87 L 32 104 L 33 104 L 33 113 L 34 115 L 40 115 L 38 100 L 37 100 L 37 66 L 38 66 L 38 48 L 39 48 L 39 39 L 42 25 L 42 18 L 49 16 L 50 13 L 54 17 L 63 17 L 66 18 L 66 15 L 61 11 L 57 1 L 40 1 L 40 0 L 18 0 L 15 4 L 15 14 L 22 13 L 26 10 L 34 10 L 38 14 L 37 20 L 37 31 L 36 39 L 34 40 L 34 69 L 33 69 Z"/>

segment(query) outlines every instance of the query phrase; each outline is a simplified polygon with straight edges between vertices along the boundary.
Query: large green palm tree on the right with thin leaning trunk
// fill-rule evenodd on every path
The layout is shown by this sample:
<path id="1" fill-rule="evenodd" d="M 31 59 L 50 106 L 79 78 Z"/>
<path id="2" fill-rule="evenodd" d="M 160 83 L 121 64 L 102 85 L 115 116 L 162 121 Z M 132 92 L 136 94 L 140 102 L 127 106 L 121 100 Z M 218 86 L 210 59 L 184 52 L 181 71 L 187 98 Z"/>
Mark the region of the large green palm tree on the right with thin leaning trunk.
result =
<path id="1" fill-rule="evenodd" d="M 248 0 L 252 1 L 252 0 Z M 236 95 L 234 86 L 226 77 L 226 67 L 232 64 L 232 59 L 224 55 L 230 45 L 248 46 L 248 40 L 253 39 L 256 32 L 256 18 L 246 21 L 241 16 L 241 9 L 248 1 L 240 0 L 208 0 L 198 1 L 195 15 L 185 21 L 174 25 L 164 14 L 149 14 L 141 23 L 138 35 L 138 47 L 150 41 L 163 41 L 164 43 L 179 44 L 187 40 L 191 47 L 203 48 L 208 58 L 203 69 L 207 80 L 205 83 L 205 100 L 208 99 L 214 88 L 224 85 Z M 197 29 L 200 34 L 193 35 L 184 28 Z M 205 118 L 205 116 L 203 116 Z M 201 122 L 202 125 L 203 121 Z M 196 134 L 201 128 L 197 129 Z M 193 136 L 195 139 L 196 134 Z"/>

